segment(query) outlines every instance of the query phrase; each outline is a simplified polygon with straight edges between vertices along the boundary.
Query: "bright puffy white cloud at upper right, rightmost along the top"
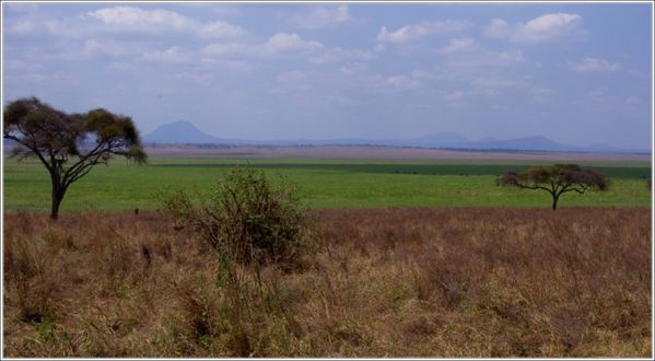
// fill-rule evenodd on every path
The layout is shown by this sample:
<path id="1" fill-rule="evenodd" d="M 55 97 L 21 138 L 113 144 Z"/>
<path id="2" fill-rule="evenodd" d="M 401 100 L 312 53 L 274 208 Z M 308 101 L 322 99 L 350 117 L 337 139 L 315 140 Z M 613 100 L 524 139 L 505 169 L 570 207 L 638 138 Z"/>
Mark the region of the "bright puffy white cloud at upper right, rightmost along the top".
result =
<path id="1" fill-rule="evenodd" d="M 582 16 L 577 14 L 553 13 L 535 18 L 527 23 L 510 24 L 494 19 L 484 34 L 495 38 L 506 38 L 516 43 L 542 43 L 563 38 L 577 38 L 585 34 Z"/>

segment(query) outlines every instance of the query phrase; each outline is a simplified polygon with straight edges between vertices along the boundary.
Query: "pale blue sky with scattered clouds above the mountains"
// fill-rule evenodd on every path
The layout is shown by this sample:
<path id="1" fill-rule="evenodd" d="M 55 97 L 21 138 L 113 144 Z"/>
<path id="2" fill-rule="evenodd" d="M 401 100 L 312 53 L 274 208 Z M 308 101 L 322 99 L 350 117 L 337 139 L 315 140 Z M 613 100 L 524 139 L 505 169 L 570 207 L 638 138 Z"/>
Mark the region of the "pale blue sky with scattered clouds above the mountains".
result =
<path id="1" fill-rule="evenodd" d="M 652 5 L 2 3 L 3 104 L 142 135 L 652 148 Z"/>

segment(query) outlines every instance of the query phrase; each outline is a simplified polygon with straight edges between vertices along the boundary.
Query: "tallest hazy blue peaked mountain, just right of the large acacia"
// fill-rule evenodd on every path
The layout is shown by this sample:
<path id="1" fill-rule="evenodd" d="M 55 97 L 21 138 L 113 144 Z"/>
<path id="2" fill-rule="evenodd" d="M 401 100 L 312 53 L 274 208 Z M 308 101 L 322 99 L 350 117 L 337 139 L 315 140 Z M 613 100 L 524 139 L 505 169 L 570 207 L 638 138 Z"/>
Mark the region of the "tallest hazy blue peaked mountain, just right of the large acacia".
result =
<path id="1" fill-rule="evenodd" d="M 143 137 L 144 142 L 149 143 L 222 143 L 219 138 L 212 137 L 202 130 L 196 128 L 190 121 L 174 121 L 160 126 L 151 133 Z"/>

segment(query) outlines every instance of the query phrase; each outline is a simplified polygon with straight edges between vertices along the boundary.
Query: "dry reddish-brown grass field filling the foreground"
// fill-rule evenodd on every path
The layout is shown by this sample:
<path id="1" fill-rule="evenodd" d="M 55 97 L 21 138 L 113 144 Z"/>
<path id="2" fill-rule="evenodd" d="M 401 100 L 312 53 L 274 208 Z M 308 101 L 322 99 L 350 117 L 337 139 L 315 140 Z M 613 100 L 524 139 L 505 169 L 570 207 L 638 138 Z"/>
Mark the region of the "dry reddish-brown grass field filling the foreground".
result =
<path id="1" fill-rule="evenodd" d="M 235 306 L 160 212 L 5 214 L 4 356 L 652 356 L 650 209 L 312 218 L 315 254 L 239 268 Z"/>

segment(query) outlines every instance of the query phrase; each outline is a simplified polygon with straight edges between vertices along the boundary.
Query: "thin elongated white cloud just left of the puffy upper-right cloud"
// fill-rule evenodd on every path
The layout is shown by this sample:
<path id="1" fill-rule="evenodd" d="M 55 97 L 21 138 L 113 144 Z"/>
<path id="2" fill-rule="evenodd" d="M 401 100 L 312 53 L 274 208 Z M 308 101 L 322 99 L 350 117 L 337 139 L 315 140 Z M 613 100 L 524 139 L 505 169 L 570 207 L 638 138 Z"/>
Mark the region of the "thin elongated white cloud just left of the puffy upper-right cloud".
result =
<path id="1" fill-rule="evenodd" d="M 381 43 L 409 43 L 433 34 L 448 34 L 465 31 L 470 26 L 467 21 L 443 20 L 405 25 L 395 32 L 383 26 L 377 34 Z"/>

